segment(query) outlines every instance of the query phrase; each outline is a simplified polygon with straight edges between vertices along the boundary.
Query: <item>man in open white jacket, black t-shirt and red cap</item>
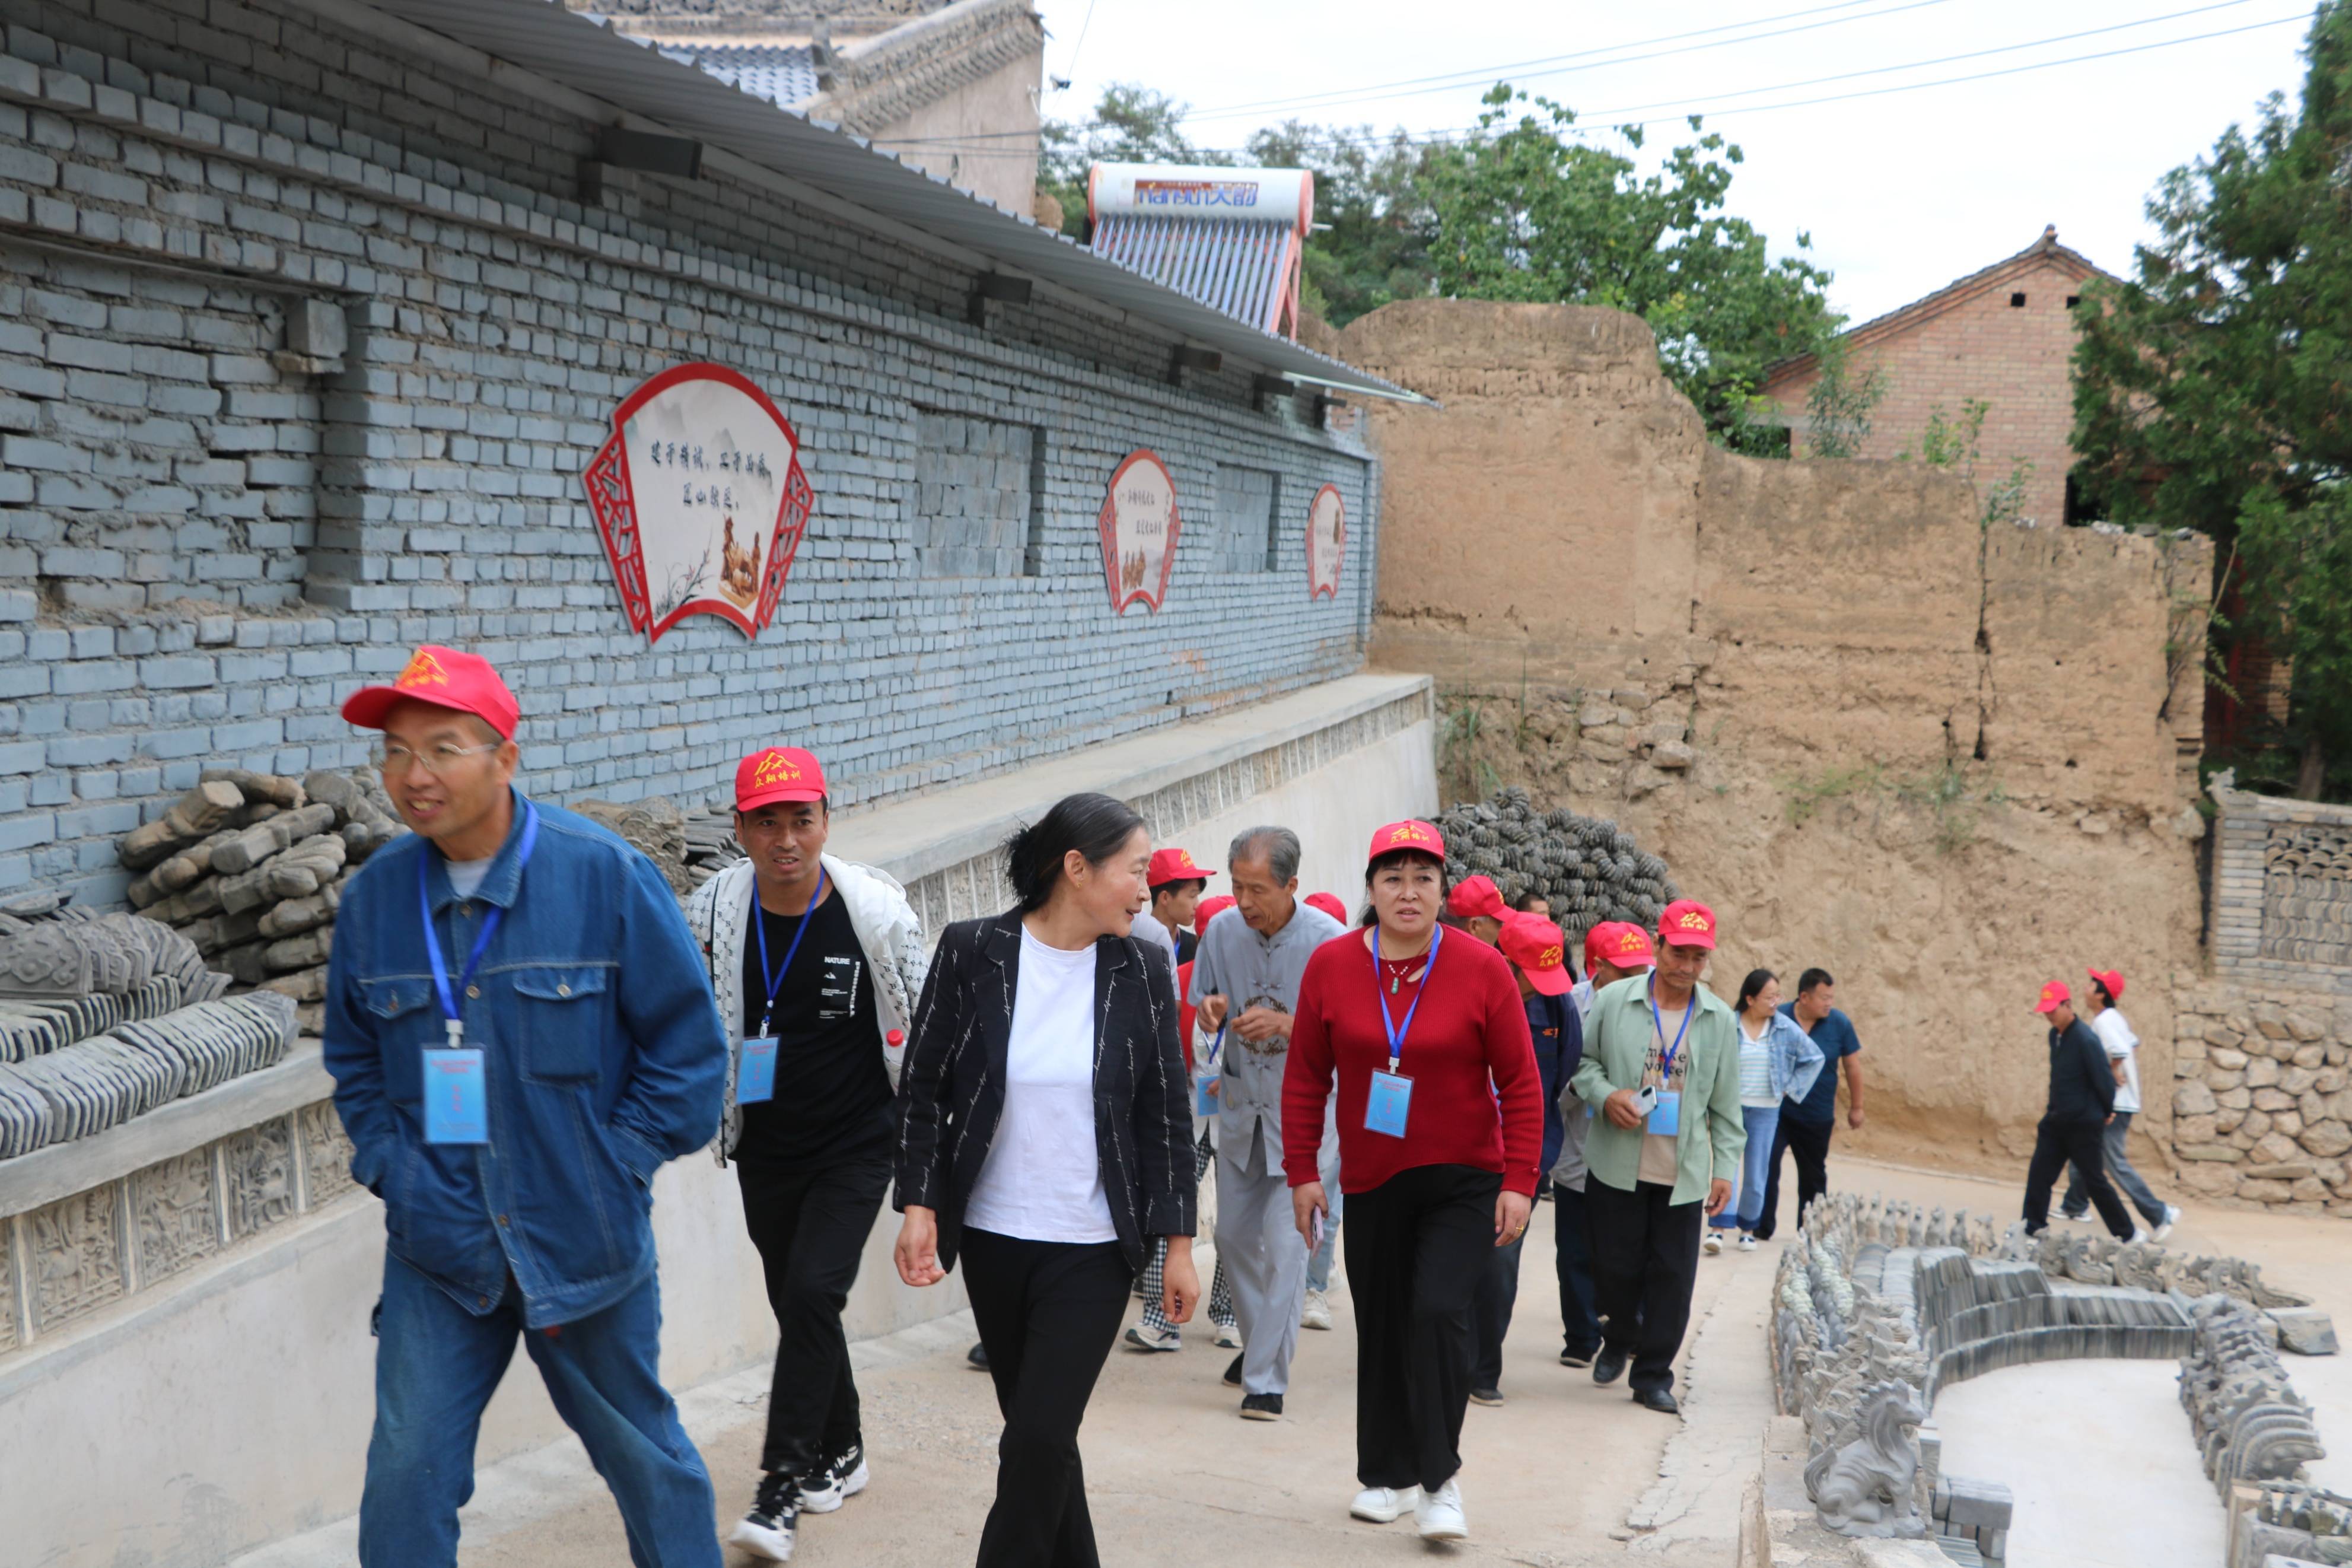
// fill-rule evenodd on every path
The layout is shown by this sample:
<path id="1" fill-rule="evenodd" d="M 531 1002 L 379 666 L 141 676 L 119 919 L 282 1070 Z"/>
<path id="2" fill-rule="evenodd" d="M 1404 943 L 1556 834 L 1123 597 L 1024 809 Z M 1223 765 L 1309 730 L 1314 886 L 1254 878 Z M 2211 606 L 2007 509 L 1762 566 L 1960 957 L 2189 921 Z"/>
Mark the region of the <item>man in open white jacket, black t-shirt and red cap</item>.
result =
<path id="1" fill-rule="evenodd" d="M 731 1044 L 717 1157 L 734 1157 L 779 1331 L 762 1479 L 727 1540 L 779 1563 L 802 1512 L 866 1486 L 842 1305 L 889 1190 L 898 1063 L 929 966 L 906 891 L 823 853 L 828 830 L 816 757 L 753 752 L 736 769 L 750 858 L 687 910 Z"/>

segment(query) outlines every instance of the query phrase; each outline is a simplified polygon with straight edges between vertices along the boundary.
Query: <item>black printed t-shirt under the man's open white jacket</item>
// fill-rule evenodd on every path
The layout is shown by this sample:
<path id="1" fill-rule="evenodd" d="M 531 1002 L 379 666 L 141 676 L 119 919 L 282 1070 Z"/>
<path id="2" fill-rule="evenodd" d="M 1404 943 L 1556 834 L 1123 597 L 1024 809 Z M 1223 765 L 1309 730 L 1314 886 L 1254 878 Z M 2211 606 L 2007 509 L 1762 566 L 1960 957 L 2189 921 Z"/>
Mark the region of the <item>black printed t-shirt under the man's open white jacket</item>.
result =
<path id="1" fill-rule="evenodd" d="M 771 971 L 783 969 L 800 922 L 814 924 L 776 987 L 774 1009 L 760 973 L 760 933 L 743 933 L 743 1034 L 760 1034 L 767 1013 L 769 1032 L 781 1044 L 776 1093 L 743 1107 L 736 1159 L 771 1166 L 887 1159 L 898 1126 L 882 1067 L 873 966 L 858 947 L 849 910 L 830 889 L 807 917 L 771 914 L 757 907 L 757 898 L 753 907 L 767 926 Z"/>

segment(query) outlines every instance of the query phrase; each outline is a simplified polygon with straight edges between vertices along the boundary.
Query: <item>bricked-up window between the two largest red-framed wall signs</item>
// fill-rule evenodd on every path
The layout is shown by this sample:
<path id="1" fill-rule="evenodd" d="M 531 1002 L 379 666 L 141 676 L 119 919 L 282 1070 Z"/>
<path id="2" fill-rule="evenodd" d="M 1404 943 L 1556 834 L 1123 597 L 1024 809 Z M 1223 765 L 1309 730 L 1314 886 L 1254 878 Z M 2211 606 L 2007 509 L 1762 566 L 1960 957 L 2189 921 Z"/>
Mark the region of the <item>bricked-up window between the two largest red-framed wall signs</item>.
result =
<path id="1" fill-rule="evenodd" d="M 969 414 L 915 411 L 915 571 L 1035 574 L 1044 534 L 1044 435 Z"/>

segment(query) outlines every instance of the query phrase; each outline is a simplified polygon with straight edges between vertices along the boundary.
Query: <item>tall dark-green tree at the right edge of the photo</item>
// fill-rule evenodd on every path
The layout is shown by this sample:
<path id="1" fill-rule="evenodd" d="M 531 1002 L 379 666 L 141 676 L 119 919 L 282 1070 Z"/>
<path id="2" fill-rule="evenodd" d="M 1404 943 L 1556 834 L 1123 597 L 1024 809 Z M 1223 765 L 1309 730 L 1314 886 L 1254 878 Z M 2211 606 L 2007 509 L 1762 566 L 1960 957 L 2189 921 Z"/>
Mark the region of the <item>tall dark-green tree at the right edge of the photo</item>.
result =
<path id="1" fill-rule="evenodd" d="M 2079 482 L 2117 522 L 2237 548 L 2239 625 L 2293 658 L 2296 795 L 2352 776 L 2352 7 L 2319 5 L 2296 110 L 2173 169 L 2133 277 L 2084 292 Z"/>

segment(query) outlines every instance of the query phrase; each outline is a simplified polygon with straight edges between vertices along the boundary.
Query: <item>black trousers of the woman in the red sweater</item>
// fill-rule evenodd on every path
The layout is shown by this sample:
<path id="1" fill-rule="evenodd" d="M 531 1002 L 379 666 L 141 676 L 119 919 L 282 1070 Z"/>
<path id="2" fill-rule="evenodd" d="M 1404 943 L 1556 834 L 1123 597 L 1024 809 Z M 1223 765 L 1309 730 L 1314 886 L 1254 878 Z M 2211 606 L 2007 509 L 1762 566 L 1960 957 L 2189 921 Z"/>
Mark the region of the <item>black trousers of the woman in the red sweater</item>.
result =
<path id="1" fill-rule="evenodd" d="M 1470 1298 L 1494 1251 L 1503 1178 L 1475 1166 L 1414 1166 L 1348 1194 L 1355 1298 L 1355 1479 L 1444 1486 L 1463 1467 L 1470 1406 Z"/>

